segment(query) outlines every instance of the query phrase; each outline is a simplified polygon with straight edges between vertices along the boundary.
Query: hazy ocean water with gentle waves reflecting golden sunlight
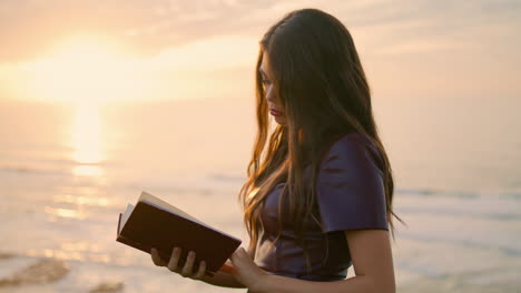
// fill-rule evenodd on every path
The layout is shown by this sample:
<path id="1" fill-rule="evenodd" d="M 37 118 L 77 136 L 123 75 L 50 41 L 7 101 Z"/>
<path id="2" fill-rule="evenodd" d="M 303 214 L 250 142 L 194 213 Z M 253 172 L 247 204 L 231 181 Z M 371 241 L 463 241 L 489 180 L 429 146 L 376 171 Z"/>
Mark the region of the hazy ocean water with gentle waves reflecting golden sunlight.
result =
<path id="1" fill-rule="evenodd" d="M 406 222 L 393 242 L 399 292 L 521 292 L 519 101 L 374 107 Z M 246 246 L 237 194 L 255 131 L 253 100 L 0 100 L 0 292 L 244 292 L 115 240 L 119 212 L 148 191 Z"/>

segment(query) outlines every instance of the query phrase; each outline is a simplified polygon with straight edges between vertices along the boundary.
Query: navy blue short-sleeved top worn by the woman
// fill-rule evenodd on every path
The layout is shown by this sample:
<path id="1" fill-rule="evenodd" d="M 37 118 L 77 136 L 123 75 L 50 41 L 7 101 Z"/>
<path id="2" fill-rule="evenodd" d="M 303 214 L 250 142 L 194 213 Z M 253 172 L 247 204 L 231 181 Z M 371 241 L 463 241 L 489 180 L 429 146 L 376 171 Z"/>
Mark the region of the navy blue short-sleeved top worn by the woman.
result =
<path id="1" fill-rule="evenodd" d="M 316 181 L 317 204 L 313 216 L 303 219 L 309 274 L 304 250 L 296 242 L 295 224 L 284 216 L 289 214 L 287 196 L 282 203 L 282 234 L 273 245 L 278 232 L 278 198 L 285 183 L 277 184 L 264 200 L 255 263 L 273 274 L 302 280 L 345 279 L 352 262 L 344 231 L 389 230 L 379 165 L 383 165 L 380 152 L 360 133 L 341 137 L 323 156 Z"/>

